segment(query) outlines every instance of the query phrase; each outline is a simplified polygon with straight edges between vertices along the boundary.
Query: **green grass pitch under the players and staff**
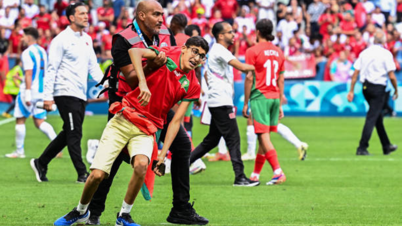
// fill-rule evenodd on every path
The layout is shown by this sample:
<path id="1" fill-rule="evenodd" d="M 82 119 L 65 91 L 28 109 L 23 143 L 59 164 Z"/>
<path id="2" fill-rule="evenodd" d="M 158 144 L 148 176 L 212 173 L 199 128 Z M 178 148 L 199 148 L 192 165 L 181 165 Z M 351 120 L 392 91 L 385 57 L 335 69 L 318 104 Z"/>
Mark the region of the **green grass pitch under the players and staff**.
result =
<path id="1" fill-rule="evenodd" d="M 3 120 L 1 118 L 0 120 Z M 50 116 L 56 132 L 62 120 Z M 194 144 L 206 135 L 208 127 L 194 121 Z M 209 219 L 211 226 L 393 226 L 402 225 L 402 154 L 401 149 L 382 155 L 374 130 L 369 152 L 372 156 L 355 156 L 364 118 L 285 117 L 287 125 L 309 144 L 307 160 L 297 160 L 295 148 L 278 134 L 272 135 L 279 162 L 287 176 L 282 185 L 269 187 L 272 176 L 269 164 L 261 173 L 258 187 L 233 187 L 234 173 L 230 162 L 207 162 L 207 170 L 191 175 L 191 200 L 197 212 Z M 86 141 L 100 138 L 106 124 L 105 115 L 86 117 L 82 154 Z M 241 150 L 246 151 L 246 120 L 238 117 Z M 386 118 L 390 140 L 402 146 L 402 118 Z M 27 120 L 25 159 L 7 159 L 4 154 L 15 149 L 14 122 L 0 125 L 0 226 L 52 225 L 74 208 L 83 189 L 77 184 L 76 172 L 67 149 L 61 159 L 49 164 L 48 183 L 38 183 L 29 165 L 49 143 L 32 119 Z M 215 151 L 215 150 L 214 150 Z M 247 161 L 250 175 L 254 162 Z M 123 163 L 109 193 L 102 225 L 114 225 L 116 213 L 127 189 L 132 169 Z M 170 175 L 156 179 L 151 202 L 141 195 L 131 215 L 142 226 L 168 224 L 171 208 Z"/>

